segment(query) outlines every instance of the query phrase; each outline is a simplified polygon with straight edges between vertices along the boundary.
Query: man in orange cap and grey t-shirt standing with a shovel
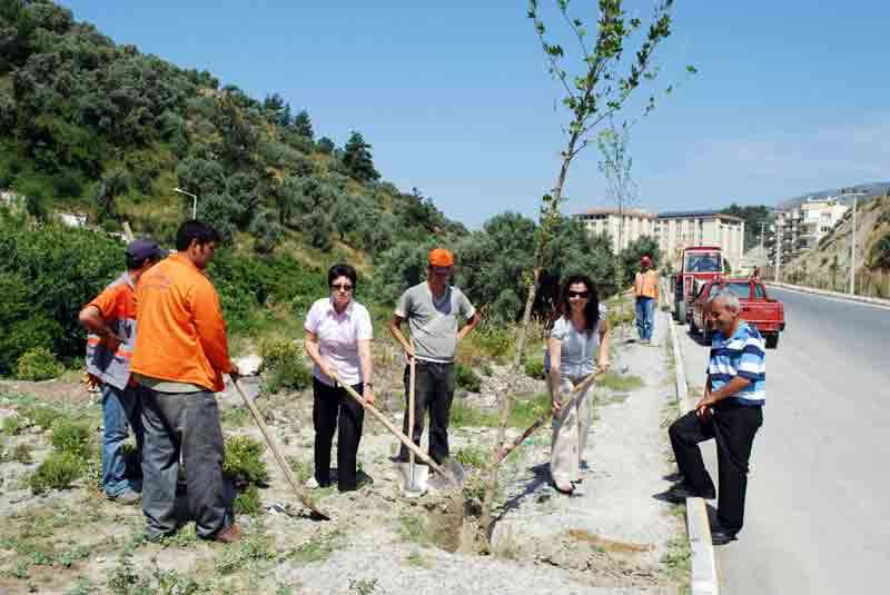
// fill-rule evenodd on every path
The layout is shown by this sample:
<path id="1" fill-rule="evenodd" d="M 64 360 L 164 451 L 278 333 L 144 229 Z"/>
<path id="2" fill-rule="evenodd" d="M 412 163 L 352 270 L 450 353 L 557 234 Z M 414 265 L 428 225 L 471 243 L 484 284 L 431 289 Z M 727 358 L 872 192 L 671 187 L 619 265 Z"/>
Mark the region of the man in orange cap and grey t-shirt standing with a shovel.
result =
<path id="1" fill-rule="evenodd" d="M 411 437 L 421 444 L 424 413 L 429 409 L 429 456 L 436 463 L 448 458 L 448 420 L 454 398 L 454 356 L 457 344 L 479 321 L 476 308 L 466 296 L 448 284 L 454 256 L 444 248 L 429 252 L 426 280 L 402 294 L 389 324 L 389 331 L 402 345 L 405 357 L 416 357 L 414 427 Z M 466 324 L 458 331 L 458 317 Z M 408 321 L 414 348 L 402 334 L 402 323 Z M 408 399 L 409 367 L 405 366 L 405 403 Z M 408 416 L 404 432 L 408 434 Z M 408 460 L 403 445 L 398 460 Z"/>

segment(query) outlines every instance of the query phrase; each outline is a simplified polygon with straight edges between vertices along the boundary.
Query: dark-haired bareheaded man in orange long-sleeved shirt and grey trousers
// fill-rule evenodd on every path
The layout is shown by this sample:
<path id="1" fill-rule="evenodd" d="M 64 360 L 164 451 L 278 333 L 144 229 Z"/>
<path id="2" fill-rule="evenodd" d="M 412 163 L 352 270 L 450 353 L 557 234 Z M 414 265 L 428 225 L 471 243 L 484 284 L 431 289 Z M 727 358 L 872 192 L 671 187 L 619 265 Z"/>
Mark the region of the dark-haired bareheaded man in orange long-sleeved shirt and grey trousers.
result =
<path id="1" fill-rule="evenodd" d="M 224 443 L 214 393 L 222 374 L 237 374 L 229 359 L 219 297 L 205 274 L 219 234 L 186 221 L 177 252 L 142 276 L 132 373 L 145 388 L 142 512 L 151 541 L 177 529 L 174 513 L 181 453 L 189 510 L 204 539 L 231 543 L 238 535 L 222 479 Z"/>

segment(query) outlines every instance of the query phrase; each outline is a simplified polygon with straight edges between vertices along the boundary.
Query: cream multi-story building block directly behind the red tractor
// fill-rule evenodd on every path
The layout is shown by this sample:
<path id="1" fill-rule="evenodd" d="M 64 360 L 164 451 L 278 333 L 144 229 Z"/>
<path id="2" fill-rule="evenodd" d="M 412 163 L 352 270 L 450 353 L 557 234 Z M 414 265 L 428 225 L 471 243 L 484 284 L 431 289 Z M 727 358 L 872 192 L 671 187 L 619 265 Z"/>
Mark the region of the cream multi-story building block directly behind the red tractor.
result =
<path id="1" fill-rule="evenodd" d="M 660 212 L 655 238 L 662 258 L 676 267 L 683 248 L 719 246 L 723 258 L 738 267 L 744 256 L 744 219 L 715 210 Z"/>

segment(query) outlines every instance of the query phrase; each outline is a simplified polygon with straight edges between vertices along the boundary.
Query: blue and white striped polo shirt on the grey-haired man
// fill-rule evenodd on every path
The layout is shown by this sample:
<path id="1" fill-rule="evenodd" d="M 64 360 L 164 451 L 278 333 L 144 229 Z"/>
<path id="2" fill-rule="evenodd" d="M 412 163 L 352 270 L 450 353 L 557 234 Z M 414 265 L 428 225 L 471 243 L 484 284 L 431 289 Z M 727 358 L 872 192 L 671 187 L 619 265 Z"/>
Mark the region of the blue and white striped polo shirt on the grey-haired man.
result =
<path id="1" fill-rule="evenodd" d="M 708 364 L 711 391 L 716 391 L 735 376 L 751 383 L 726 400 L 739 405 L 760 406 L 767 401 L 767 361 L 763 337 L 744 320 L 726 339 L 714 333 L 711 339 L 711 360 Z"/>

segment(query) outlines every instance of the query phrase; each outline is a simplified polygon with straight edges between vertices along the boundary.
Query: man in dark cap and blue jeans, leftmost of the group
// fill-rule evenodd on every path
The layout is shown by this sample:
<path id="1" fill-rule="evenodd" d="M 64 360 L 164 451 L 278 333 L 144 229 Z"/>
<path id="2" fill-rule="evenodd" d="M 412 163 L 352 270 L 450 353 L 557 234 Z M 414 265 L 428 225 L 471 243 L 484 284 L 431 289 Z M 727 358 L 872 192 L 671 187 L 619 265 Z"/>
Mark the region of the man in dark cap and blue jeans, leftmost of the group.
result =
<path id="1" fill-rule="evenodd" d="M 127 245 L 127 270 L 87 304 L 78 319 L 87 337 L 87 373 L 102 394 L 102 492 L 121 504 L 136 504 L 137 489 L 127 479 L 123 442 L 128 425 L 136 435 L 137 456 L 142 450 L 141 389 L 130 376 L 136 345 L 136 285 L 145 271 L 167 252 L 152 239 Z"/>

